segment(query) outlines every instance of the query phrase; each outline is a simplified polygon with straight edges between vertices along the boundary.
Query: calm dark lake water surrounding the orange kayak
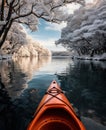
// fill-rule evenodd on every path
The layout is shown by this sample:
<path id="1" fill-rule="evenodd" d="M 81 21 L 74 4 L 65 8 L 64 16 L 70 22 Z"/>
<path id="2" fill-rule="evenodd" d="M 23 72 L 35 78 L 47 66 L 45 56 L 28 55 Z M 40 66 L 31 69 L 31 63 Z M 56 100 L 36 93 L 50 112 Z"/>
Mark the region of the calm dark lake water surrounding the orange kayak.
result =
<path id="1" fill-rule="evenodd" d="M 0 61 L 0 130 L 26 130 L 53 79 L 87 130 L 106 130 L 106 62 L 66 57 Z"/>

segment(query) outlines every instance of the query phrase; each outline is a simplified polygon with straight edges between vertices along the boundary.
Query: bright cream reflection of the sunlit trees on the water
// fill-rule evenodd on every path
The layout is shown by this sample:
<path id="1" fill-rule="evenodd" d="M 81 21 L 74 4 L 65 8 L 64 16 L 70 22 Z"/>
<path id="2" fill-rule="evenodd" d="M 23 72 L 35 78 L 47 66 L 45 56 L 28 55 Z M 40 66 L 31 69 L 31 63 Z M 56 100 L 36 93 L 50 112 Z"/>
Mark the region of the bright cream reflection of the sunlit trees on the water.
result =
<path id="1" fill-rule="evenodd" d="M 31 80 L 36 71 L 45 64 L 51 62 L 51 57 L 34 57 L 14 59 L 16 68 L 20 68 L 27 75 L 28 80 Z"/>

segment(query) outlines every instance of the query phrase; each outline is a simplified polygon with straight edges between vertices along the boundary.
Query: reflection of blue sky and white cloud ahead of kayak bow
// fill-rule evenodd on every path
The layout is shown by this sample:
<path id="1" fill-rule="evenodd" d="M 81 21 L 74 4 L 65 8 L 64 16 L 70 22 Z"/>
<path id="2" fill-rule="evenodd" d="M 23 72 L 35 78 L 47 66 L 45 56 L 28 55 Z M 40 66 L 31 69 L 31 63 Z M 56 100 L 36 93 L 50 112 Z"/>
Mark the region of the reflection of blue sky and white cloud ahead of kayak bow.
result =
<path id="1" fill-rule="evenodd" d="M 29 88 L 46 91 L 53 79 L 59 82 L 56 74 L 66 73 L 66 67 L 69 63 L 73 64 L 69 58 L 52 59 L 51 62 L 46 62 L 46 65 L 40 67 L 33 79 L 28 82 Z"/>

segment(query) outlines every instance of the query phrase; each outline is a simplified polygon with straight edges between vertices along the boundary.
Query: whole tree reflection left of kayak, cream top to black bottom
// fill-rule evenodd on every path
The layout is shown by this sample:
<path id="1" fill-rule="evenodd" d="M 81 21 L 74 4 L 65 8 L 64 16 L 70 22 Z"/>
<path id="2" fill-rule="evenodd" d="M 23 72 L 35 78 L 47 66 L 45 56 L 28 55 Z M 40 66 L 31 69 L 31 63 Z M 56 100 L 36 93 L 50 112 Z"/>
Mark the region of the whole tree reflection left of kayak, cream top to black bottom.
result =
<path id="1" fill-rule="evenodd" d="M 26 89 L 27 82 L 49 60 L 50 57 L 0 62 L 0 130 L 26 130 L 41 99 L 39 91 Z"/>

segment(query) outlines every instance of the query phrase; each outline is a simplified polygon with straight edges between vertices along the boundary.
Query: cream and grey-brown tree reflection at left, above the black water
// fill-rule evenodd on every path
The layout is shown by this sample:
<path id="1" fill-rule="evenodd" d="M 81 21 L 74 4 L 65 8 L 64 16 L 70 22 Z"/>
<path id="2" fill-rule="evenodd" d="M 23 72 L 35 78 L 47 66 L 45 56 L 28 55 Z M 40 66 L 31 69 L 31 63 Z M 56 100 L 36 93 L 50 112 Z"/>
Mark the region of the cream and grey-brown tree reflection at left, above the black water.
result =
<path id="1" fill-rule="evenodd" d="M 14 61 L 0 62 L 1 80 L 5 85 L 10 97 L 17 98 L 28 88 L 27 82 L 30 81 L 45 63 L 50 62 L 50 57 L 43 58 L 20 58 Z"/>

